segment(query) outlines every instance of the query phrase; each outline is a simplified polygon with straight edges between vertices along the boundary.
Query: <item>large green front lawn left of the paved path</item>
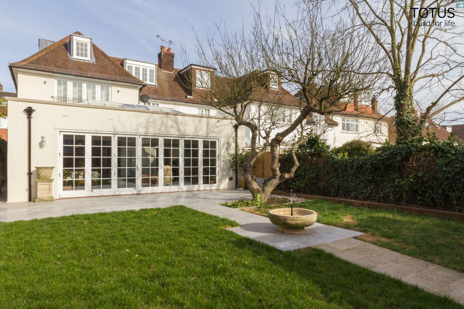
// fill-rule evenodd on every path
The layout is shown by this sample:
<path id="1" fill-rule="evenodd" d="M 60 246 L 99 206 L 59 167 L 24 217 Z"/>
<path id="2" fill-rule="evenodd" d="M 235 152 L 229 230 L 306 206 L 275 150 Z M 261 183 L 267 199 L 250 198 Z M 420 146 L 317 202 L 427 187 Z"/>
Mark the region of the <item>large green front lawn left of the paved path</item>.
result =
<path id="1" fill-rule="evenodd" d="M 0 308 L 461 308 L 183 206 L 0 223 Z"/>

